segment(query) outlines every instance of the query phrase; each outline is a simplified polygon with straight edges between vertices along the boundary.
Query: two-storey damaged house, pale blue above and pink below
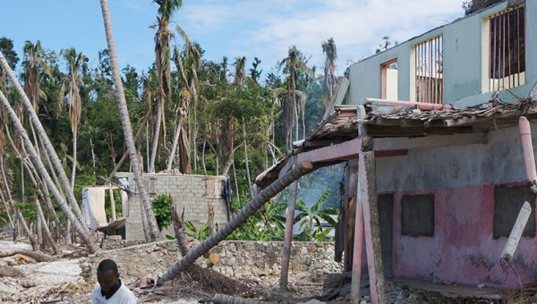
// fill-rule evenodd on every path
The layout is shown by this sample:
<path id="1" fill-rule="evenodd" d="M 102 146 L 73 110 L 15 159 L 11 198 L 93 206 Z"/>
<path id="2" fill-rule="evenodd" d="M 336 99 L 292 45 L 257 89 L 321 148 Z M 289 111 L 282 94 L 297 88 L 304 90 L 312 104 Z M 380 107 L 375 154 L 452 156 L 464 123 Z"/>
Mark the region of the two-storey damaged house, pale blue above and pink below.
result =
<path id="1" fill-rule="evenodd" d="M 339 240 L 354 279 L 369 267 L 373 302 L 384 277 L 532 283 L 535 146 L 521 137 L 537 142 L 534 123 L 524 131 L 537 118 L 535 54 L 537 2 L 503 1 L 354 63 L 319 127 L 256 183 L 303 161 L 346 162 Z M 500 257 L 524 201 L 509 265 Z"/>

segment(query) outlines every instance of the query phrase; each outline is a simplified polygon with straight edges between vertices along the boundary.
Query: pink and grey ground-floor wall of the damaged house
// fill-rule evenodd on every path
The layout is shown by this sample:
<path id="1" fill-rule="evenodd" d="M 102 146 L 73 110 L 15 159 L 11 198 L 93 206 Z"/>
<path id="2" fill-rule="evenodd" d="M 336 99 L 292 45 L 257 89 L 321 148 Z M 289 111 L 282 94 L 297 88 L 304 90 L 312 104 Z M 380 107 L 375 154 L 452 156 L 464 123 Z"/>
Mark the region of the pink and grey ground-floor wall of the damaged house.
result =
<path id="1" fill-rule="evenodd" d="M 537 126 L 532 131 L 536 143 Z M 378 191 L 394 194 L 394 275 L 513 287 L 518 274 L 529 283 L 537 277 L 537 239 L 522 238 L 513 262 L 516 274 L 506 276 L 499 258 L 507 237 L 493 237 L 495 186 L 525 182 L 516 127 L 490 131 L 484 145 L 413 149 L 406 156 L 377 158 Z M 435 199 L 433 236 L 403 235 L 404 196 L 429 194 Z"/>

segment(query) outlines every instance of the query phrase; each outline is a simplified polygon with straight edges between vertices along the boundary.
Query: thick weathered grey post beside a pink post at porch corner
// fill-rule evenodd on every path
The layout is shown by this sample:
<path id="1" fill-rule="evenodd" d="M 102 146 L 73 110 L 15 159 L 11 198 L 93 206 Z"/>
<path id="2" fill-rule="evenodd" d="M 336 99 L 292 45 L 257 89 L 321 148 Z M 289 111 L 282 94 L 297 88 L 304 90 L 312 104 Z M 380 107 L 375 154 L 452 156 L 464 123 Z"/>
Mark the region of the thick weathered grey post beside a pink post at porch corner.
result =
<path id="1" fill-rule="evenodd" d="M 371 303 L 386 303 L 384 295 L 384 267 L 380 245 L 379 206 L 377 176 L 373 151 L 360 152 L 359 158 L 360 198 L 363 206 L 363 225 L 367 264 L 371 285 Z"/>

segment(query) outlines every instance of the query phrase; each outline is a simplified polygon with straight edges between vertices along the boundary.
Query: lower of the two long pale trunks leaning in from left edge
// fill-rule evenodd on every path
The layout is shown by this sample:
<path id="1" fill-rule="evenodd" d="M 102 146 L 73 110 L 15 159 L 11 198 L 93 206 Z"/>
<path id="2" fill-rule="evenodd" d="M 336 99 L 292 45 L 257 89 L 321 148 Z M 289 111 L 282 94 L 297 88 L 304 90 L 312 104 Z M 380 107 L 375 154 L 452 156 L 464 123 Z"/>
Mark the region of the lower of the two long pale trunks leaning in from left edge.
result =
<path id="1" fill-rule="evenodd" d="M 0 53 L 0 60 L 2 60 L 4 64 L 5 58 L 4 58 L 4 55 L 2 55 L 2 53 Z M 98 251 L 97 243 L 91 237 L 88 229 L 82 226 L 81 222 L 78 221 L 78 219 L 72 212 L 72 209 L 67 205 L 67 202 L 65 202 L 65 198 L 62 195 L 62 193 L 60 193 L 60 191 L 57 190 L 57 188 L 55 187 L 55 184 L 54 182 L 52 182 L 52 179 L 50 178 L 50 175 L 48 174 L 47 169 L 45 168 L 45 165 L 43 165 L 41 158 L 38 156 L 35 148 L 33 147 L 30 141 L 30 138 L 28 137 L 28 134 L 24 130 L 24 127 L 22 126 L 21 121 L 17 117 L 17 114 L 15 114 L 15 112 L 13 111 L 13 108 L 11 107 L 7 99 L 4 97 L 4 94 L 2 92 L 0 92 L 0 99 L 2 100 L 4 107 L 7 109 L 12 119 L 15 130 L 19 132 L 21 138 L 24 139 L 24 143 L 26 147 L 28 148 L 28 152 L 30 153 L 30 157 L 34 165 L 38 167 L 38 172 L 41 174 L 45 182 L 47 182 L 48 188 L 52 191 L 52 194 L 54 195 L 56 202 L 60 205 L 60 207 L 62 207 L 62 210 L 64 210 L 65 216 L 72 222 L 76 231 L 80 233 L 82 240 L 88 246 L 88 251 L 90 253 L 97 252 Z M 78 208 L 78 206 L 74 206 L 74 207 Z"/>

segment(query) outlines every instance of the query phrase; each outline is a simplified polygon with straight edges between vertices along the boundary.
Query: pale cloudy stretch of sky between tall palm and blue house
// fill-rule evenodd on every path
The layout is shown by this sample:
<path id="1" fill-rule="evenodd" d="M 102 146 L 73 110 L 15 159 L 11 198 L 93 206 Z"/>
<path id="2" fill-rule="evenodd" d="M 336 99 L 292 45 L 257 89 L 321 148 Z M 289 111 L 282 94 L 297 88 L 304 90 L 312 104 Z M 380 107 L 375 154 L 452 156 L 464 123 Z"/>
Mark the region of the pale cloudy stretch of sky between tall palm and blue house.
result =
<path id="1" fill-rule="evenodd" d="M 460 0 L 206 1 L 185 4 L 182 11 L 177 21 L 192 38 L 204 37 L 200 43 L 208 55 L 215 47 L 225 53 L 215 59 L 258 56 L 265 71 L 286 56 L 289 46 L 312 55 L 311 63 L 321 67 L 320 43 L 333 37 L 343 72 L 347 59 L 371 55 L 384 36 L 402 42 L 463 15 Z M 225 45 L 206 40 L 213 35 L 226 37 Z"/>

